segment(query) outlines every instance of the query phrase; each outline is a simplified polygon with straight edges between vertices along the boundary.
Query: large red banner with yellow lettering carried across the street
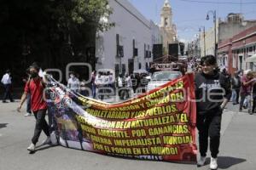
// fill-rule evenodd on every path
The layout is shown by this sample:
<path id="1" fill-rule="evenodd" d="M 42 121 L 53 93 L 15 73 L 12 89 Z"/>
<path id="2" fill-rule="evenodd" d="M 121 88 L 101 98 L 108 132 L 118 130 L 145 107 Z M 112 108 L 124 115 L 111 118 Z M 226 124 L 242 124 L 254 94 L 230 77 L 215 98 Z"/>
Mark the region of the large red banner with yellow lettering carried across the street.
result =
<path id="1" fill-rule="evenodd" d="M 70 93 L 51 82 L 49 116 L 59 144 L 111 156 L 196 161 L 192 74 L 117 104 Z"/>

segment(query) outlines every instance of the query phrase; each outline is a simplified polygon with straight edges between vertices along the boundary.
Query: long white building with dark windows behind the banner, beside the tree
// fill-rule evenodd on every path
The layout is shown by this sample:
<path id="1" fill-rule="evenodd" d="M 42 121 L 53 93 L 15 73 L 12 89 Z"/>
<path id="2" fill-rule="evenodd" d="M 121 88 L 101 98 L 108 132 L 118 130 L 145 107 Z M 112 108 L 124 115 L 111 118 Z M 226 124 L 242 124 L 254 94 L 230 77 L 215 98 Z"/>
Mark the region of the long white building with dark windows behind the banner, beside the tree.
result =
<path id="1" fill-rule="evenodd" d="M 152 31 L 152 23 L 127 0 L 109 0 L 109 6 L 113 8 L 109 21 L 115 26 L 96 36 L 96 70 L 113 69 L 119 74 L 147 69 L 152 42 L 160 41 L 157 29 Z"/>

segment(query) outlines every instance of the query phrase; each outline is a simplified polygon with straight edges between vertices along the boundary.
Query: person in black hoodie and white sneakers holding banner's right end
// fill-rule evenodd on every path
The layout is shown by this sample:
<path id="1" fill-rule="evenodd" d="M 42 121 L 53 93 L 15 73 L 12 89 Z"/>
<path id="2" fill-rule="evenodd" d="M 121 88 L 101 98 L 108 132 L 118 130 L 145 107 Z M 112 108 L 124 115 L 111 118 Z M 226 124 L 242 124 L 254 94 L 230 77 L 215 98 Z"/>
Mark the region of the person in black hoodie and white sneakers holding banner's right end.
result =
<path id="1" fill-rule="evenodd" d="M 216 67 L 215 57 L 207 55 L 201 58 L 202 71 L 195 74 L 196 127 L 201 154 L 197 165 L 205 164 L 210 137 L 211 169 L 218 168 L 221 118 L 231 96 L 229 82 L 225 82 L 225 77 L 218 73 Z"/>

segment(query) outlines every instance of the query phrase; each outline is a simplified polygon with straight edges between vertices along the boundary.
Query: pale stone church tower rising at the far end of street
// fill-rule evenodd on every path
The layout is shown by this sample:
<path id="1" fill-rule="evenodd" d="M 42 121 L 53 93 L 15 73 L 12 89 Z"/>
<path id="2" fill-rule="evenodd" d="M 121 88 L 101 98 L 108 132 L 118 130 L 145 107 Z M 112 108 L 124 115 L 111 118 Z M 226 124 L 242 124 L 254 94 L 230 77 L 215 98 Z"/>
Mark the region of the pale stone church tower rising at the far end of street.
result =
<path id="1" fill-rule="evenodd" d="M 176 26 L 172 24 L 172 7 L 169 0 L 165 0 L 160 17 L 160 31 L 163 37 L 164 53 L 168 54 L 168 44 L 177 42 L 177 31 Z"/>

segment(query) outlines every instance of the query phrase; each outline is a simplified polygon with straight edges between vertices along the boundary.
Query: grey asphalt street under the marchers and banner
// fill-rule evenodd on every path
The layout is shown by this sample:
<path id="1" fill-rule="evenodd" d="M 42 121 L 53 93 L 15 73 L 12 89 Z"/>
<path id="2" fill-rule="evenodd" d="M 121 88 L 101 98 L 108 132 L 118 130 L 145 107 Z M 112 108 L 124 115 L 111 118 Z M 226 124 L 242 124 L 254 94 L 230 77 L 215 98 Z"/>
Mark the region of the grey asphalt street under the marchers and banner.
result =
<path id="1" fill-rule="evenodd" d="M 35 120 L 25 117 L 15 109 L 18 103 L 0 104 L 0 170 L 191 170 L 209 169 L 207 165 L 183 164 L 163 161 L 140 161 L 112 156 L 102 156 L 62 146 L 38 146 L 34 154 L 26 150 L 31 143 Z M 254 170 L 256 167 L 256 114 L 238 112 L 237 105 L 229 104 L 222 119 L 222 137 L 218 169 Z M 38 144 L 45 139 L 41 134 Z M 209 156 L 209 154 L 207 155 Z"/>

